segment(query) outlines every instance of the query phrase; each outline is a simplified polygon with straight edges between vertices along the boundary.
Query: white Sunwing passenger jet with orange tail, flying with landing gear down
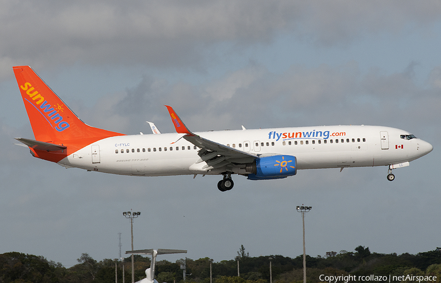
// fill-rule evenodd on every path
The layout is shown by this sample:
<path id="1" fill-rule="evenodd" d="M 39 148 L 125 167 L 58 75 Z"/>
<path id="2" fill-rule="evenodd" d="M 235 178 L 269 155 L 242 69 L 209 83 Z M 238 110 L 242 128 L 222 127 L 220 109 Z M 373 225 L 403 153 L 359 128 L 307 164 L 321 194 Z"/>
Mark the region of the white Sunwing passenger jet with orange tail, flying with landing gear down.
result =
<path id="1" fill-rule="evenodd" d="M 413 134 L 385 126 L 338 125 L 191 132 L 167 106 L 175 133 L 125 135 L 91 127 L 29 67 L 13 67 L 35 140 L 17 138 L 37 158 L 66 168 L 132 176 L 232 175 L 248 180 L 294 176 L 297 169 L 388 166 L 433 150 Z"/>

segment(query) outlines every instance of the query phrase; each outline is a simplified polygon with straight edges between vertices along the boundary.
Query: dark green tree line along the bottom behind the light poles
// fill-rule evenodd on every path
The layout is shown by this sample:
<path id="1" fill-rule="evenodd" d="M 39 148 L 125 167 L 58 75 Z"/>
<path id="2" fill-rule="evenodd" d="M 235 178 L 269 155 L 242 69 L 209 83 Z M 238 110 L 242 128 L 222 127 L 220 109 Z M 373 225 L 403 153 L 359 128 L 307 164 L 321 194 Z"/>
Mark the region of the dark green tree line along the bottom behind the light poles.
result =
<path id="1" fill-rule="evenodd" d="M 240 277 L 237 275 L 239 260 Z M 115 282 L 115 265 L 118 282 L 131 281 L 131 258 L 122 261 L 103 259 L 97 261 L 87 253 L 77 259 L 78 264 L 66 268 L 61 263 L 41 256 L 18 252 L 0 255 L 0 283 L 110 283 Z M 155 279 L 166 283 L 184 283 L 181 264 L 184 259 L 156 262 Z M 303 255 L 296 258 L 280 255 L 249 257 L 241 246 L 238 257 L 212 263 L 213 283 L 270 283 L 270 261 L 273 283 L 303 283 Z M 150 259 L 135 255 L 135 280 L 145 278 Z M 441 251 L 437 248 L 416 255 L 371 253 L 369 248 L 358 246 L 354 252 L 331 251 L 321 257 L 306 256 L 307 282 L 320 282 L 320 275 L 340 276 L 437 276 L 441 282 Z M 210 283 L 210 259 L 186 259 L 185 283 Z M 365 281 L 368 282 L 368 281 Z M 411 282 L 411 281 L 403 281 Z"/>

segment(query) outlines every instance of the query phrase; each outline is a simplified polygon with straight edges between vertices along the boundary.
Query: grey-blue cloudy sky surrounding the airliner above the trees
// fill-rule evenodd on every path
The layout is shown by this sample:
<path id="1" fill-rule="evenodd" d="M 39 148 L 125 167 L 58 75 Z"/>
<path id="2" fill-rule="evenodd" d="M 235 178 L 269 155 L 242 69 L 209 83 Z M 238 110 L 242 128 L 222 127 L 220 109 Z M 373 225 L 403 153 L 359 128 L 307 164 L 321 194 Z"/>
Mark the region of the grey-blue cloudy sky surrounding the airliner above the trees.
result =
<path id="1" fill-rule="evenodd" d="M 81 253 L 187 257 L 441 246 L 441 4 L 401 0 L 0 1 L 0 253 L 70 267 Z M 125 134 L 333 124 L 385 125 L 434 150 L 387 167 L 299 171 L 217 189 L 219 176 L 129 177 L 33 158 L 12 66 L 29 65 L 86 123 Z M 184 255 L 161 256 L 174 261 Z M 158 257 L 158 260 L 161 260 Z"/>

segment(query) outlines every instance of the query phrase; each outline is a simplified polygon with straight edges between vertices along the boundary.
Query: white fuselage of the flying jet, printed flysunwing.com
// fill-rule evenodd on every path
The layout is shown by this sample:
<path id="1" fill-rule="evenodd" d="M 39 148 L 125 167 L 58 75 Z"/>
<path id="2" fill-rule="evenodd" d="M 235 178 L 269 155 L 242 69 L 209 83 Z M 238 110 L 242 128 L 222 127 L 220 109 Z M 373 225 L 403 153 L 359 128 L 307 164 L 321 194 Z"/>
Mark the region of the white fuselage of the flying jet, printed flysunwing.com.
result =
<path id="1" fill-rule="evenodd" d="M 205 139 L 259 156 L 293 155 L 298 169 L 400 164 L 432 150 L 410 133 L 383 126 L 317 126 L 195 133 Z M 404 138 L 403 138 L 404 136 Z M 110 137 L 78 150 L 60 162 L 66 167 L 122 175 L 170 176 L 245 174 L 243 166 L 203 169 L 194 144 L 182 134 Z"/>

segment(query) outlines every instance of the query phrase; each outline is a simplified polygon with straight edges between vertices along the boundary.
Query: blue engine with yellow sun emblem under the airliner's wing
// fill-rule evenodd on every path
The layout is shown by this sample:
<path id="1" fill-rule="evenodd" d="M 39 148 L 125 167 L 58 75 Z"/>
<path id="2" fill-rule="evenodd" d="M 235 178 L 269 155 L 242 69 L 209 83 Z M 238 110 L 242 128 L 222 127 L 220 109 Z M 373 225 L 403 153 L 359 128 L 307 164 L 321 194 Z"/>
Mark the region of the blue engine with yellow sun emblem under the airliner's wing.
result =
<path id="1" fill-rule="evenodd" d="M 248 174 L 248 180 L 281 179 L 297 173 L 297 159 L 292 155 L 262 157 L 252 165 L 253 173 Z"/>

